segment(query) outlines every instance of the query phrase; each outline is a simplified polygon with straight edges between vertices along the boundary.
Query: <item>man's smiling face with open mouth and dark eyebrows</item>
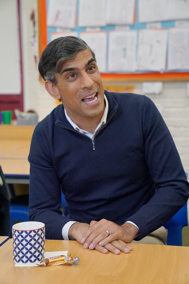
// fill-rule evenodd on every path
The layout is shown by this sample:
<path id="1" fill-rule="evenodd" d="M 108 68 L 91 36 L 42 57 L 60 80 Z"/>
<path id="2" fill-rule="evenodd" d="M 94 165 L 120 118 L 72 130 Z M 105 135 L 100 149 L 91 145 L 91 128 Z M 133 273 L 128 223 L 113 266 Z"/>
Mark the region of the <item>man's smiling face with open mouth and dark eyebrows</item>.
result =
<path id="1" fill-rule="evenodd" d="M 74 59 L 64 61 L 56 80 L 66 112 L 76 124 L 86 119 L 101 119 L 105 108 L 104 88 L 90 50 L 81 50 Z"/>

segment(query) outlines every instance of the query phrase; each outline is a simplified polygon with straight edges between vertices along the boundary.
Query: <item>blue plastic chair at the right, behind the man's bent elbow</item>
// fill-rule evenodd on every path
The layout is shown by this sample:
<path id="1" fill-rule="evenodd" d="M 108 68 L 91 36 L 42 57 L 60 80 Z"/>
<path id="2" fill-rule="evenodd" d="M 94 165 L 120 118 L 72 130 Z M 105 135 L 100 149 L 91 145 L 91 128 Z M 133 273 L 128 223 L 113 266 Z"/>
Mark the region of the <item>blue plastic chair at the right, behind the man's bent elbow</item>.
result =
<path id="1" fill-rule="evenodd" d="M 186 173 L 188 178 L 188 173 Z M 188 226 L 187 203 L 164 225 L 168 229 L 167 245 L 182 245 L 182 228 Z"/>

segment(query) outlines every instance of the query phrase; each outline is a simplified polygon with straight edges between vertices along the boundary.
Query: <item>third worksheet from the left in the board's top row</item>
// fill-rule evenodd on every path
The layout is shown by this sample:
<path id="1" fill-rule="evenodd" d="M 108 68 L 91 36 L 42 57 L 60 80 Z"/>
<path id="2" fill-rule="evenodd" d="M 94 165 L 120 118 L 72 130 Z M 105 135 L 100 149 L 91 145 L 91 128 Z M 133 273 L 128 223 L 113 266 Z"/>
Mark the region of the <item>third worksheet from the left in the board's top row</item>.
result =
<path id="1" fill-rule="evenodd" d="M 107 0 L 106 24 L 133 24 L 135 0 Z"/>

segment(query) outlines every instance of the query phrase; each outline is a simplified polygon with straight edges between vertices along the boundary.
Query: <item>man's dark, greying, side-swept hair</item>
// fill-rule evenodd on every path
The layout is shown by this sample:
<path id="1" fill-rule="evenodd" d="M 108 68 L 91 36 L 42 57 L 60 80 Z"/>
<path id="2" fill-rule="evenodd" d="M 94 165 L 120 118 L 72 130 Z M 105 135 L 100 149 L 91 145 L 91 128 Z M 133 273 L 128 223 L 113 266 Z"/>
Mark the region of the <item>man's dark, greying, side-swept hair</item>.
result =
<path id="1" fill-rule="evenodd" d="M 61 71 L 61 63 L 64 60 L 75 58 L 80 50 L 89 49 L 95 59 L 92 49 L 76 36 L 64 36 L 54 39 L 47 44 L 39 60 L 39 73 L 44 80 L 57 84 L 55 75 Z"/>

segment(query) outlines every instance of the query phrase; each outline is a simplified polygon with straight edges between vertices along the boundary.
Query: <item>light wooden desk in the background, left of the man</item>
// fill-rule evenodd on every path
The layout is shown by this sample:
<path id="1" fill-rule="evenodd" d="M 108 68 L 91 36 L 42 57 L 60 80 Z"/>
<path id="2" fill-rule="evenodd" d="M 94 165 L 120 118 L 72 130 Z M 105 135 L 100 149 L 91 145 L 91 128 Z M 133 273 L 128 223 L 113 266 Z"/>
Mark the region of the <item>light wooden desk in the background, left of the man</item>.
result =
<path id="1" fill-rule="evenodd" d="M 35 126 L 0 125 L 0 165 L 7 183 L 29 183 L 27 157 Z"/>

